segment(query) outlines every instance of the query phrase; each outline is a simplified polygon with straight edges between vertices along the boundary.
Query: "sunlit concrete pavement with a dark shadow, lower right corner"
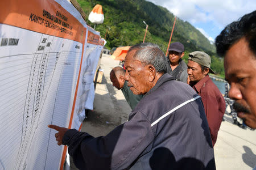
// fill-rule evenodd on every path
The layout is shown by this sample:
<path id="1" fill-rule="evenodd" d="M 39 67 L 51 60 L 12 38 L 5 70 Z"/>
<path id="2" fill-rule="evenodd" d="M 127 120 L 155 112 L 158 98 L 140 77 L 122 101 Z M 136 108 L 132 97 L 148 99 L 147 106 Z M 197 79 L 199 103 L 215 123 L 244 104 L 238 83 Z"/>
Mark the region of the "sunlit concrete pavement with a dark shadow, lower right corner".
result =
<path id="1" fill-rule="evenodd" d="M 224 115 L 214 146 L 217 169 L 253 169 L 256 165 L 256 131 L 241 129 Z"/>

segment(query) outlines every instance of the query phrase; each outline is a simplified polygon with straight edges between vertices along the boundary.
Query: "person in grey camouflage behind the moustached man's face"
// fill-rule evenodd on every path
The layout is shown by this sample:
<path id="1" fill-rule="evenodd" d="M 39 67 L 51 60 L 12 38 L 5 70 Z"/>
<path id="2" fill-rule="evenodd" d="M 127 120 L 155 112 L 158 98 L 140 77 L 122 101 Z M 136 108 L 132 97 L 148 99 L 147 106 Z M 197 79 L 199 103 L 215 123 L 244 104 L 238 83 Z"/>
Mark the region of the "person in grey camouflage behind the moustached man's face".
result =
<path id="1" fill-rule="evenodd" d="M 232 100 L 228 97 L 229 90 L 230 90 L 230 85 L 229 85 L 229 83 L 226 82 L 225 83 L 225 95 L 224 95 L 224 100 L 225 100 L 225 103 L 226 103 L 225 113 L 226 114 L 231 114 L 234 125 L 237 125 L 242 129 L 246 129 L 246 126 L 243 126 L 243 124 L 240 124 L 240 122 L 237 121 L 237 112 L 233 108 L 234 100 Z M 230 112 L 227 109 L 228 106 L 230 107 Z"/>

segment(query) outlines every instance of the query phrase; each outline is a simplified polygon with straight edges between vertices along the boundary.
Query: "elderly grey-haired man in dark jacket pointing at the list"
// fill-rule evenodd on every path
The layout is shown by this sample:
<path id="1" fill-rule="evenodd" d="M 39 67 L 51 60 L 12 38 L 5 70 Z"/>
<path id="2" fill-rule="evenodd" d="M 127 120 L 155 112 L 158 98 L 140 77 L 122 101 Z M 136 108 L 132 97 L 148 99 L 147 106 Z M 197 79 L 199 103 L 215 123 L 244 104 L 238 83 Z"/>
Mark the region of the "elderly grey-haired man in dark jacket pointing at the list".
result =
<path id="1" fill-rule="evenodd" d="M 49 125 L 58 145 L 80 169 L 215 169 L 209 126 L 200 96 L 165 74 L 167 60 L 154 44 L 130 48 L 125 80 L 144 95 L 129 121 L 105 137 Z"/>

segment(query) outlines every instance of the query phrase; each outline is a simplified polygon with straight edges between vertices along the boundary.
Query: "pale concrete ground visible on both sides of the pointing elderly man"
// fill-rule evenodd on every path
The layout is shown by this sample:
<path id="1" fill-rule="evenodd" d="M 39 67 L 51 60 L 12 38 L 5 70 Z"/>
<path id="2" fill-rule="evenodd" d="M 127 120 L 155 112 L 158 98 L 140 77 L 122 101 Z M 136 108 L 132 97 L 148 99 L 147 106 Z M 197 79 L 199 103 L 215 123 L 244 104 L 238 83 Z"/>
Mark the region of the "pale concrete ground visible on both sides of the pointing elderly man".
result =
<path id="1" fill-rule="evenodd" d="M 101 69 L 104 70 L 102 83 L 97 83 L 94 110 L 86 116 L 82 130 L 94 137 L 106 135 L 123 122 L 131 112 L 121 90 L 112 86 L 109 73 L 119 61 L 103 54 Z M 214 156 L 217 169 L 253 169 L 256 165 L 256 130 L 241 129 L 232 124 L 232 118 L 225 115 L 221 124 Z M 71 169 L 74 165 L 71 165 Z"/>

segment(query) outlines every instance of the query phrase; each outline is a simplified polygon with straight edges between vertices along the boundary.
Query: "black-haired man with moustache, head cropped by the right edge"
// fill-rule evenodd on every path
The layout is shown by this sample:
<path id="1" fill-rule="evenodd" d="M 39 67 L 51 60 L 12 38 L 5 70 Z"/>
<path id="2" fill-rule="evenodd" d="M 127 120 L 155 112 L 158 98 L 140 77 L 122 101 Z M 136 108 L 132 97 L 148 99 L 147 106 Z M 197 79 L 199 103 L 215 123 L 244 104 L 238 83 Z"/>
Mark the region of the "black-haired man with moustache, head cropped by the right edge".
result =
<path id="1" fill-rule="evenodd" d="M 256 129 L 256 11 L 227 25 L 215 44 L 217 54 L 224 56 L 233 108 L 247 126 Z"/>

